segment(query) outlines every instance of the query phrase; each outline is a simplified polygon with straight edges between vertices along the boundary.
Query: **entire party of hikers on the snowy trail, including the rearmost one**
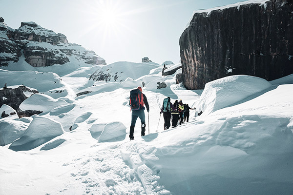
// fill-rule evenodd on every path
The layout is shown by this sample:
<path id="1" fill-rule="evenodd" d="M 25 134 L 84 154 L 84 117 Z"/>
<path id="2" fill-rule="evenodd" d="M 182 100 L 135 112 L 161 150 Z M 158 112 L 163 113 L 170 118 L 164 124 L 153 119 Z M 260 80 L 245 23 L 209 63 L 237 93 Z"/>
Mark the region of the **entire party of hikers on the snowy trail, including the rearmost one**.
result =
<path id="1" fill-rule="evenodd" d="M 137 89 L 133 89 L 130 91 L 129 105 L 132 110 L 131 115 L 131 125 L 130 125 L 130 134 L 129 138 L 134 139 L 134 127 L 137 118 L 141 119 L 141 136 L 145 136 L 146 132 L 146 117 L 145 117 L 145 109 L 147 113 L 149 112 L 149 105 L 147 102 L 146 95 L 142 93 L 143 90 L 141 87 Z M 195 108 L 190 108 L 188 104 L 183 104 L 182 100 L 175 100 L 175 102 L 171 103 L 171 98 L 167 97 L 163 101 L 163 105 L 161 108 L 160 114 L 163 113 L 164 117 L 164 130 L 169 129 L 171 126 L 170 121 L 172 118 L 172 127 L 177 127 L 178 121 L 179 124 L 183 124 L 185 121 L 188 122 L 189 119 L 189 109 L 195 110 Z M 146 105 L 146 108 L 144 107 Z M 160 115 L 161 117 L 161 115 Z"/>

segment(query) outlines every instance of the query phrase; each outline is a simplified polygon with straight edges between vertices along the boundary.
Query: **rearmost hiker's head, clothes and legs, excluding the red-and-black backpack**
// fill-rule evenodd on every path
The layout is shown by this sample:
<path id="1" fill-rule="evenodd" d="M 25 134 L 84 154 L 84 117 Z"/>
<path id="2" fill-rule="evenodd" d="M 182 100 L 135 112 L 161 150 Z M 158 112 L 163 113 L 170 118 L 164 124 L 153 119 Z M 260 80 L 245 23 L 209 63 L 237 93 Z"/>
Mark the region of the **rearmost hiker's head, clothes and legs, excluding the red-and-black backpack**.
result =
<path id="1" fill-rule="evenodd" d="M 141 87 L 138 87 L 137 89 L 139 89 L 141 92 L 143 92 Z M 130 126 L 130 134 L 129 134 L 130 139 L 134 139 L 133 133 L 134 133 L 134 126 L 135 126 L 137 117 L 139 117 L 141 119 L 141 122 L 142 122 L 141 135 L 145 136 L 145 132 L 146 132 L 146 116 L 145 116 L 144 104 L 146 105 L 146 111 L 147 112 L 149 112 L 149 106 L 148 106 L 148 102 L 147 102 L 147 99 L 146 99 L 146 95 L 143 94 L 143 93 L 141 93 L 141 95 L 142 95 L 142 97 L 140 98 L 140 102 L 139 102 L 140 103 L 140 109 L 139 110 L 132 110 L 131 126 Z"/>

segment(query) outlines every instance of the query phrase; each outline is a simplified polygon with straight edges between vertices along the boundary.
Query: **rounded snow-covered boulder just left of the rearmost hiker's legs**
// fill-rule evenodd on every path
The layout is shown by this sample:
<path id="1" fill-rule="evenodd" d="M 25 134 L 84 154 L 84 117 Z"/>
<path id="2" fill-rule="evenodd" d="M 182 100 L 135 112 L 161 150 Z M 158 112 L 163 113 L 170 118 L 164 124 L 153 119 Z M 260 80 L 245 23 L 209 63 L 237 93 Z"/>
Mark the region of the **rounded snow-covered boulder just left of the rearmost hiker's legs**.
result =
<path id="1" fill-rule="evenodd" d="M 99 137 L 99 142 L 122 141 L 126 137 L 126 127 L 121 122 L 111 122 L 105 125 Z"/>

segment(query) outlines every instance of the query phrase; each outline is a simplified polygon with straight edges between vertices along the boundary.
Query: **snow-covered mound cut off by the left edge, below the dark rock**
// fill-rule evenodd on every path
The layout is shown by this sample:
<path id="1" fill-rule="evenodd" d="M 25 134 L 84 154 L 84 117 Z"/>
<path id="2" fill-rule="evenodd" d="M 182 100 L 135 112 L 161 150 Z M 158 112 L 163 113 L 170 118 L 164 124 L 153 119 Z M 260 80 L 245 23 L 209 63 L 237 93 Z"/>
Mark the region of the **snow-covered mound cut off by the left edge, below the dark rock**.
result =
<path id="1" fill-rule="evenodd" d="M 5 146 L 20 138 L 29 123 L 21 120 L 5 119 L 0 121 L 0 146 Z"/>

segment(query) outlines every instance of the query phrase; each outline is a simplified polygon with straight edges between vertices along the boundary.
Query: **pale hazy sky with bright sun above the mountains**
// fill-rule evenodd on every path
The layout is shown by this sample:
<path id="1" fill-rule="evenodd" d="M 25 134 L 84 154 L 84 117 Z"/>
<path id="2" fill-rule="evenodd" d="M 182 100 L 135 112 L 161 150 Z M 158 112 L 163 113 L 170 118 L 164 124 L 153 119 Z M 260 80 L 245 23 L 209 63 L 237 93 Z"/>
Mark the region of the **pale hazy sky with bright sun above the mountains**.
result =
<path id="1" fill-rule="evenodd" d="M 242 0 L 0 0 L 0 17 L 16 29 L 34 21 L 107 62 L 180 61 L 179 38 L 193 11 Z"/>

